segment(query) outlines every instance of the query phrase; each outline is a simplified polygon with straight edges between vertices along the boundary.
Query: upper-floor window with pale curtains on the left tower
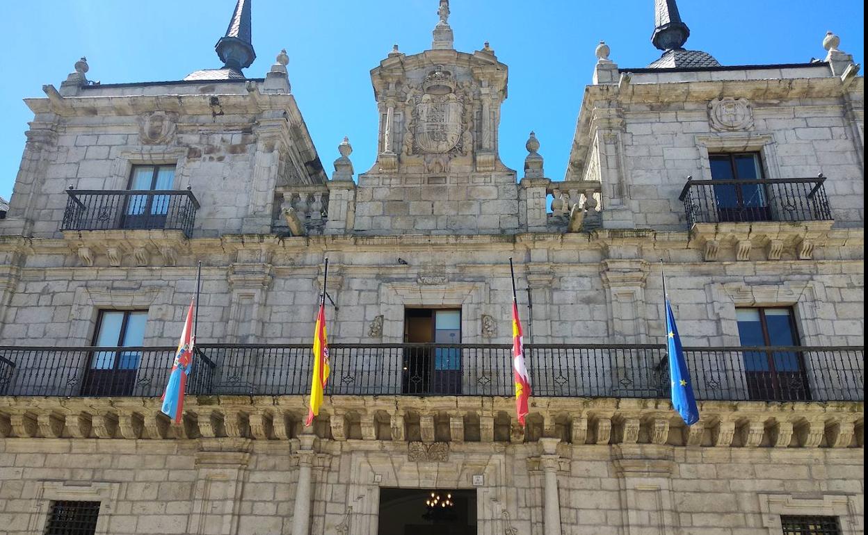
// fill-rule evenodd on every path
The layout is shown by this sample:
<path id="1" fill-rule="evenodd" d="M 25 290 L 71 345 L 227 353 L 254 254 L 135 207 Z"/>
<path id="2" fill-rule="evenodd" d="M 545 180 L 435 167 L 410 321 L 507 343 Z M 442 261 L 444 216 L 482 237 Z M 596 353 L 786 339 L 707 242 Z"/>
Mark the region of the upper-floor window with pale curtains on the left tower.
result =
<path id="1" fill-rule="evenodd" d="M 134 191 L 170 190 L 175 166 L 133 166 L 129 188 Z M 130 195 L 124 210 L 124 228 L 162 228 L 169 212 L 168 195 Z"/>

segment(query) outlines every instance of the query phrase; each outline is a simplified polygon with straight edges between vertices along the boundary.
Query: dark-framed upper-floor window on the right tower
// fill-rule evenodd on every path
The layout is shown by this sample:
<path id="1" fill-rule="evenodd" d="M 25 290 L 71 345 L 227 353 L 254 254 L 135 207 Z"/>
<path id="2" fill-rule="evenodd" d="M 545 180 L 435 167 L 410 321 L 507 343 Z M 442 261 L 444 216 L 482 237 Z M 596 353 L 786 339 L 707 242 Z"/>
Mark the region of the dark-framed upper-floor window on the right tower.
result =
<path id="1" fill-rule="evenodd" d="M 720 221 L 768 221 L 766 186 L 756 180 L 763 179 L 759 153 L 709 154 L 711 178 L 726 181 L 714 186 L 714 201 Z"/>

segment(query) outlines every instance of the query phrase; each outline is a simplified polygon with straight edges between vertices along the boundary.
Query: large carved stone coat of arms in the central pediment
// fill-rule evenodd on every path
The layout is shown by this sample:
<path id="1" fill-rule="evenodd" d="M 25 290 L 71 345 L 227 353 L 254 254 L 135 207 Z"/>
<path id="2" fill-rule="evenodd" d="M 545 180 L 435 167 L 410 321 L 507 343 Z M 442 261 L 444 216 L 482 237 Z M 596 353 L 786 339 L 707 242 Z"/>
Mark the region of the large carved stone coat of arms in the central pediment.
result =
<path id="1" fill-rule="evenodd" d="M 450 151 L 464 132 L 463 115 L 456 95 L 423 95 L 416 105 L 416 146 L 424 153 Z"/>

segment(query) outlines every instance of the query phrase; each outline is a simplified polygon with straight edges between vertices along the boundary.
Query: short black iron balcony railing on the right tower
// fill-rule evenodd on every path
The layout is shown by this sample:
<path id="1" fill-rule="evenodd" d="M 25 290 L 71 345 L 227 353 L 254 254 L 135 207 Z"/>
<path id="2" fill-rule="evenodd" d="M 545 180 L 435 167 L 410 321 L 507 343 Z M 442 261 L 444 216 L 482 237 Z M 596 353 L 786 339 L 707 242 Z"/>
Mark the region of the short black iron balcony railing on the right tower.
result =
<path id="1" fill-rule="evenodd" d="M 820 174 L 816 179 L 694 180 L 678 198 L 687 223 L 831 220 Z"/>

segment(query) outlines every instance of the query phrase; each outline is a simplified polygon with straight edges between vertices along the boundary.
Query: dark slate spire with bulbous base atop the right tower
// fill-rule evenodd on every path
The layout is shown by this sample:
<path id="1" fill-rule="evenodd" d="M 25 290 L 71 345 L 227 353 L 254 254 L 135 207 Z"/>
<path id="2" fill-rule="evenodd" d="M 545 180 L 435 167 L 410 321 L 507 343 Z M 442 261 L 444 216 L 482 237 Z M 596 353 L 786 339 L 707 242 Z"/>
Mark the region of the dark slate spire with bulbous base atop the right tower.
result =
<path id="1" fill-rule="evenodd" d="M 681 20 L 675 0 L 654 0 L 654 34 L 651 42 L 663 50 L 660 59 L 648 65 L 650 69 L 687 69 L 720 67 L 712 55 L 700 50 L 686 50 L 684 43 L 690 29 Z"/>

